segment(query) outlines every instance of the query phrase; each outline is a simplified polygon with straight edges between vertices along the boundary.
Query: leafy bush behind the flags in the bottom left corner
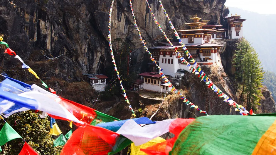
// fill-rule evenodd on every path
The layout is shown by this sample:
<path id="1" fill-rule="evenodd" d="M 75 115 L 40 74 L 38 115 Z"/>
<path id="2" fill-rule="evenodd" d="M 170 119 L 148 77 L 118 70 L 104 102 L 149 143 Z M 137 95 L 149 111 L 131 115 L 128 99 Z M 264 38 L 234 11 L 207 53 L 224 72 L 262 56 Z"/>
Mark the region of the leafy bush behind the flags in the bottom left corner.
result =
<path id="1" fill-rule="evenodd" d="M 1 128 L 4 121 L 1 121 Z M 54 139 L 50 132 L 50 121 L 40 118 L 31 110 L 15 113 L 7 121 L 12 128 L 40 155 L 58 155 L 63 147 L 53 147 Z M 22 139 L 14 139 L 2 146 L 2 154 L 18 155 L 24 142 Z"/>

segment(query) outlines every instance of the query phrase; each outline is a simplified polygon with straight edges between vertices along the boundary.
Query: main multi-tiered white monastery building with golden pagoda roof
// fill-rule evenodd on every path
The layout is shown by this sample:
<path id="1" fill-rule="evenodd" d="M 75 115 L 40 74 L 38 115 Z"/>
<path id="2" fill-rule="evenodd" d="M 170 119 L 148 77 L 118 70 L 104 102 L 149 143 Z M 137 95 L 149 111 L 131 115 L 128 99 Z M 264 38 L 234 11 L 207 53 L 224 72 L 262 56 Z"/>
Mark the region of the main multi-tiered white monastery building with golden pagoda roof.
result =
<path id="1" fill-rule="evenodd" d="M 187 23 L 191 27 L 188 30 L 179 30 L 181 33 L 181 40 L 185 44 L 191 56 L 195 59 L 198 65 L 213 65 L 218 63 L 218 52 L 223 45 L 213 44 L 212 35 L 216 34 L 216 27 L 213 29 L 203 29 L 206 25 L 206 20 L 199 22 L 201 18 L 197 16 L 191 18 L 193 23 Z M 220 25 L 217 25 L 221 29 Z M 225 34 L 224 34 L 225 36 Z M 185 56 L 184 50 L 181 48 L 181 44 L 173 43 L 174 47 L 178 48 L 178 52 L 184 56 L 189 62 L 189 58 Z M 171 75 L 172 77 L 179 77 L 182 73 L 178 73 L 177 70 L 190 71 L 186 64 L 181 63 L 180 59 L 174 54 L 174 48 L 169 43 L 159 42 L 156 47 L 150 47 L 149 50 L 153 53 L 155 60 L 159 60 L 159 66 L 163 69 L 163 73 Z M 159 57 L 157 56 L 159 54 Z"/>

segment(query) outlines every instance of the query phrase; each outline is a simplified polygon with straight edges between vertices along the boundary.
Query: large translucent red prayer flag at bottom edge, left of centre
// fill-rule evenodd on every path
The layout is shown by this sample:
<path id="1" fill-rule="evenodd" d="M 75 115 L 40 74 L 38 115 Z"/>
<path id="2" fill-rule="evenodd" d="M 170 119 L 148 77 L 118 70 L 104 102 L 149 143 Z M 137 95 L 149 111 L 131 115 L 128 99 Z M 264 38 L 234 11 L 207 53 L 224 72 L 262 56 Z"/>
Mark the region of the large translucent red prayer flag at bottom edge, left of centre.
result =
<path id="1" fill-rule="evenodd" d="M 112 151 L 120 135 L 105 128 L 85 124 L 73 132 L 60 155 L 99 155 Z"/>

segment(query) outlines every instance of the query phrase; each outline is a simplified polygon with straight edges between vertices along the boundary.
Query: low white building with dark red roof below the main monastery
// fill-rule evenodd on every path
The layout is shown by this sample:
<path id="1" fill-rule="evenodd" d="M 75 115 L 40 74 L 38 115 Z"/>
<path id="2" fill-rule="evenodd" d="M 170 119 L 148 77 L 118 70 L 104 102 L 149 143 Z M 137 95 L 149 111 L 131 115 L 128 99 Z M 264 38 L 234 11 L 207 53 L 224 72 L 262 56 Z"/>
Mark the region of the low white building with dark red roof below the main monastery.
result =
<path id="1" fill-rule="evenodd" d="M 172 87 L 169 87 L 167 83 L 164 83 L 162 80 L 160 80 L 161 75 L 158 72 L 145 72 L 139 74 L 142 76 L 142 79 L 144 81 L 143 83 L 143 89 L 154 91 L 154 92 L 170 92 Z M 168 75 L 166 75 L 167 78 L 169 78 Z"/>

